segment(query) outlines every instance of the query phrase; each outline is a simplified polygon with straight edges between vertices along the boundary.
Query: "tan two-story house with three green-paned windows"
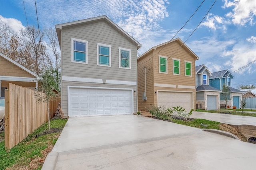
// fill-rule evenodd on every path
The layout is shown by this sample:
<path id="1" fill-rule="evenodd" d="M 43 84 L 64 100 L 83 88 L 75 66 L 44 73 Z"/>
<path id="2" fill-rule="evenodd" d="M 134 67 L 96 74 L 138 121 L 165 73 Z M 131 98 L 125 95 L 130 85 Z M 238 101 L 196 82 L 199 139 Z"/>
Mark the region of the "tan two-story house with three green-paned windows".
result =
<path id="1" fill-rule="evenodd" d="M 199 57 L 179 38 L 138 57 L 138 109 L 196 107 L 195 61 Z"/>

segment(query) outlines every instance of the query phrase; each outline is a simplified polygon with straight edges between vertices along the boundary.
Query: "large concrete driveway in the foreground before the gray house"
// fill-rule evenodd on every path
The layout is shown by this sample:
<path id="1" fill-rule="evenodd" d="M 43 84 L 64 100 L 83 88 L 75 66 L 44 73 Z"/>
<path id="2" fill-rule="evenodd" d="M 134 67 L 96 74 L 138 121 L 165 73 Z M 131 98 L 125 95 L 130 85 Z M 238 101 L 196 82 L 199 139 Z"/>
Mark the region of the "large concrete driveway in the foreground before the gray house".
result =
<path id="1" fill-rule="evenodd" d="M 241 170 L 256 166 L 255 153 L 255 144 L 202 129 L 115 115 L 69 118 L 49 155 L 55 170 Z"/>

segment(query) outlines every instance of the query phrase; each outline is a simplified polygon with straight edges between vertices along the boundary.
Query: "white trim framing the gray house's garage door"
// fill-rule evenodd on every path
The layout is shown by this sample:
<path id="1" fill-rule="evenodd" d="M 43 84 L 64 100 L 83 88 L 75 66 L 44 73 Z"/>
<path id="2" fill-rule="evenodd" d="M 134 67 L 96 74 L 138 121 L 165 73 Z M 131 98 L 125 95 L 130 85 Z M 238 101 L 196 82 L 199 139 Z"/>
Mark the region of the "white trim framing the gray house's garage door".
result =
<path id="1" fill-rule="evenodd" d="M 101 90 L 127 90 L 130 91 L 131 93 L 131 104 L 132 104 L 132 108 L 131 111 L 133 113 L 134 111 L 134 89 L 133 88 L 107 88 L 107 87 L 89 87 L 89 86 L 67 86 L 67 91 L 68 91 L 68 116 L 71 116 L 71 108 L 70 108 L 70 88 L 84 88 L 84 89 L 101 89 Z M 131 113 L 131 114 L 132 114 Z"/>

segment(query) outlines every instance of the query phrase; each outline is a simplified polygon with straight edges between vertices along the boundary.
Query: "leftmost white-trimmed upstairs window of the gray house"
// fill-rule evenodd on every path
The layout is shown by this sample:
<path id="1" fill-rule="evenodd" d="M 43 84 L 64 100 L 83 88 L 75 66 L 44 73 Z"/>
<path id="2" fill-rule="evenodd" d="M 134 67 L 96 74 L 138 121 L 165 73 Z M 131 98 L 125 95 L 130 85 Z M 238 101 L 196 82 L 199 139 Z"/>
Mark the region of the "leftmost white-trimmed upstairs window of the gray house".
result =
<path id="1" fill-rule="evenodd" d="M 88 64 L 88 41 L 71 38 L 71 62 Z"/>

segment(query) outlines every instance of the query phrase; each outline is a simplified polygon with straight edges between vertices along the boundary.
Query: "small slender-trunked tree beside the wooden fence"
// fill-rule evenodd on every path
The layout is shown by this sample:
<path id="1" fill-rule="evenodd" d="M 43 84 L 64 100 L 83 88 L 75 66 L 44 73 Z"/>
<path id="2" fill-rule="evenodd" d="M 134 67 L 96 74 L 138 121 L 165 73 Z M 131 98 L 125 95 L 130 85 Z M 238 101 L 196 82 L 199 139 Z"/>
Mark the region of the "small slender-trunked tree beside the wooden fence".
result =
<path id="1" fill-rule="evenodd" d="M 52 100 L 56 100 L 59 94 L 54 92 L 56 87 L 56 81 L 53 74 L 54 70 L 46 69 L 40 75 L 39 82 L 40 87 L 37 89 L 41 93 L 36 94 L 36 98 L 38 102 L 43 102 L 47 104 L 47 112 L 48 112 L 48 131 L 50 131 L 50 109 L 49 102 Z"/>

